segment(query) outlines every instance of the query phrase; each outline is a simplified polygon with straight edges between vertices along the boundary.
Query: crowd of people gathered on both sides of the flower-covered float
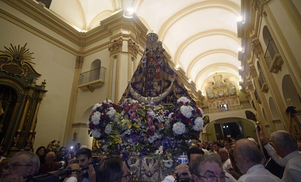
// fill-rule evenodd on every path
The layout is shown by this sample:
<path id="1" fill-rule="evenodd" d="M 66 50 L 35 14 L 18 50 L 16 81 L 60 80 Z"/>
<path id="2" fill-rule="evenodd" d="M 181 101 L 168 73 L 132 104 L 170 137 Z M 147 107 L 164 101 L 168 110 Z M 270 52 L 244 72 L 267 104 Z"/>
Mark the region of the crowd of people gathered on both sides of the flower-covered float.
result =
<path id="1" fill-rule="evenodd" d="M 296 139 L 286 131 L 276 131 L 270 144 L 261 131 L 260 140 L 270 159 L 263 157 L 253 138 L 196 143 L 187 151 L 188 164 L 178 165 L 163 182 L 301 181 L 301 153 Z M 3 151 L 1 146 L 0 154 Z M 94 168 L 92 152 L 85 146 L 76 151 L 61 147 L 57 153 L 39 147 L 36 154 L 15 153 L 2 170 L 1 181 L 21 182 L 29 176 L 55 171 L 59 161 L 65 161 L 72 171 L 66 182 L 127 182 L 131 177 L 128 166 L 118 156 L 108 157 Z M 80 174 L 84 167 L 87 173 Z"/>

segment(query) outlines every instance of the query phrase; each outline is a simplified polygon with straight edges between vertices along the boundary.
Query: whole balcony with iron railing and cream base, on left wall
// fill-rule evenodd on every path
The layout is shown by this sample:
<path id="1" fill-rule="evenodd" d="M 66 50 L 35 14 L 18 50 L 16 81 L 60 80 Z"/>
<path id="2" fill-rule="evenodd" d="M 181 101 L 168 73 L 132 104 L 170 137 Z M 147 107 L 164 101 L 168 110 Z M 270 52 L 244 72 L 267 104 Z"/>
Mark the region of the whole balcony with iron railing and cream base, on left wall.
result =
<path id="1" fill-rule="evenodd" d="M 105 73 L 106 69 L 104 67 L 83 72 L 79 74 L 77 87 L 82 91 L 90 90 L 91 92 L 93 92 L 95 88 L 100 88 L 102 85 L 104 85 Z"/>

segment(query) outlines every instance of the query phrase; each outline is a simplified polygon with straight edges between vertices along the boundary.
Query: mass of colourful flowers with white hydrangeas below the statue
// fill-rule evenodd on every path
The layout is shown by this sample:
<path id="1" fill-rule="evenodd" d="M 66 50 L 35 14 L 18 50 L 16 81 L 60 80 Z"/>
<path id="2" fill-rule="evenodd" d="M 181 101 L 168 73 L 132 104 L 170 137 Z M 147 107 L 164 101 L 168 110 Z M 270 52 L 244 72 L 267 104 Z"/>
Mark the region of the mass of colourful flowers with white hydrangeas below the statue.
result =
<path id="1" fill-rule="evenodd" d="M 203 129 L 203 111 L 186 97 L 174 107 L 153 106 L 126 99 L 119 106 L 111 100 L 93 107 L 87 126 L 90 136 L 101 140 L 108 154 L 163 155 L 170 167 L 171 156 L 188 149 L 185 140 L 198 139 Z"/>

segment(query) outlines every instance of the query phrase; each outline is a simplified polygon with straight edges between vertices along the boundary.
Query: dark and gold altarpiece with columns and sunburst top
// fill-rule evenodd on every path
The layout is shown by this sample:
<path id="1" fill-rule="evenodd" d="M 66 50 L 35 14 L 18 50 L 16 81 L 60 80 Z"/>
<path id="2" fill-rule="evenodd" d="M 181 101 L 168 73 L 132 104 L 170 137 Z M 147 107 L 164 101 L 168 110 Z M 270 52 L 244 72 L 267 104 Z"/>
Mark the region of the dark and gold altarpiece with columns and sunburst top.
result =
<path id="1" fill-rule="evenodd" d="M 41 76 L 33 68 L 33 53 L 13 46 L 0 51 L 0 143 L 10 152 L 29 150 L 35 141 L 39 106 L 45 90 L 36 85 Z"/>

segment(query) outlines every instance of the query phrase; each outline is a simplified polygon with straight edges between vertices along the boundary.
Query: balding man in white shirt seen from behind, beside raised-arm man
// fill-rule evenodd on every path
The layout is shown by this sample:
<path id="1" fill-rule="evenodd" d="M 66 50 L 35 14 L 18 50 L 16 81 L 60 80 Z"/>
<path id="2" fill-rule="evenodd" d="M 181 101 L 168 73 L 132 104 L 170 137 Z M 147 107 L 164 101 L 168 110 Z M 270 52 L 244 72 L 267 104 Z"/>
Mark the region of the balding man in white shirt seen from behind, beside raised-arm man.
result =
<path id="1" fill-rule="evenodd" d="M 233 152 L 237 167 L 244 174 L 238 182 L 281 181 L 261 164 L 262 154 L 254 142 L 247 139 L 238 140 Z"/>

